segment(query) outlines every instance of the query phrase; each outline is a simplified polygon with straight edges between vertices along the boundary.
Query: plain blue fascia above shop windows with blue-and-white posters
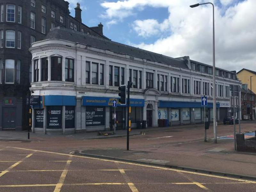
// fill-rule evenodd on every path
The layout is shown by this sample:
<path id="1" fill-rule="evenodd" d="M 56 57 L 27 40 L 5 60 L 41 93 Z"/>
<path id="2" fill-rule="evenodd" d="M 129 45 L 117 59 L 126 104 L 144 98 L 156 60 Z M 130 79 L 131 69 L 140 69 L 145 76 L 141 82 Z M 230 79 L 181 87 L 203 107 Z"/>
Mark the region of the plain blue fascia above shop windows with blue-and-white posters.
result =
<path id="1" fill-rule="evenodd" d="M 181 101 L 159 101 L 158 107 L 166 107 L 166 108 L 204 108 L 201 105 L 201 102 L 181 102 Z M 220 108 L 220 103 L 216 104 L 217 108 Z M 213 108 L 213 103 L 208 103 L 206 108 Z"/>

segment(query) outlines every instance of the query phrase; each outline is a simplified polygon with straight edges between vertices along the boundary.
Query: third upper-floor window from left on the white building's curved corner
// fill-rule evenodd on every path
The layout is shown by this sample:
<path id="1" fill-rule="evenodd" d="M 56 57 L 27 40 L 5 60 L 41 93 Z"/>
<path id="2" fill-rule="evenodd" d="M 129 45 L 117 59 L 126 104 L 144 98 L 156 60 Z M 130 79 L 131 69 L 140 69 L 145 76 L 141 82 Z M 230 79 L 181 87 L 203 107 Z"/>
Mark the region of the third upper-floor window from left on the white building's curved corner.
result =
<path id="1" fill-rule="evenodd" d="M 62 81 L 62 58 L 52 57 L 51 58 L 51 69 L 52 69 L 52 81 Z"/>

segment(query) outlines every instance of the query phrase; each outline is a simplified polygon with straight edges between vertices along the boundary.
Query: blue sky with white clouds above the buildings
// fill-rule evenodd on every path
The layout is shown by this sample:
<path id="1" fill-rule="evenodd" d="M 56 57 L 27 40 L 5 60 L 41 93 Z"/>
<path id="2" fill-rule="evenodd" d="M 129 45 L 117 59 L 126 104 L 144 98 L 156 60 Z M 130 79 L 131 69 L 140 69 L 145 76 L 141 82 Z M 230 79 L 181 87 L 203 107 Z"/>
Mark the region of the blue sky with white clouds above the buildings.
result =
<path id="1" fill-rule="evenodd" d="M 256 70 L 256 0 L 68 0 L 83 23 L 104 25 L 115 42 L 173 58 L 189 56 L 212 65 L 212 2 L 215 5 L 216 67 Z"/>

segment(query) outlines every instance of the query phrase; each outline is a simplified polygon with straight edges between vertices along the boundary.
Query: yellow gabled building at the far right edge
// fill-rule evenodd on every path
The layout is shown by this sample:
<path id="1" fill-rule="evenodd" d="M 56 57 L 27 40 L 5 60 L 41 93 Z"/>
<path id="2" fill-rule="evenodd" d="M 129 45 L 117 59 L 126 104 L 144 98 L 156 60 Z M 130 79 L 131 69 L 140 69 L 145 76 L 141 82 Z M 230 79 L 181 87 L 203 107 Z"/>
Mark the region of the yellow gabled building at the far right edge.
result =
<path id="1" fill-rule="evenodd" d="M 250 90 L 252 76 L 252 92 L 256 93 L 256 71 L 243 68 L 241 71 L 237 72 L 236 76 L 242 82 L 242 84 L 247 84 L 248 89 Z"/>

